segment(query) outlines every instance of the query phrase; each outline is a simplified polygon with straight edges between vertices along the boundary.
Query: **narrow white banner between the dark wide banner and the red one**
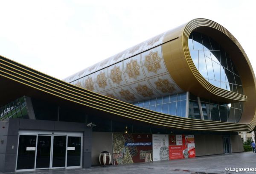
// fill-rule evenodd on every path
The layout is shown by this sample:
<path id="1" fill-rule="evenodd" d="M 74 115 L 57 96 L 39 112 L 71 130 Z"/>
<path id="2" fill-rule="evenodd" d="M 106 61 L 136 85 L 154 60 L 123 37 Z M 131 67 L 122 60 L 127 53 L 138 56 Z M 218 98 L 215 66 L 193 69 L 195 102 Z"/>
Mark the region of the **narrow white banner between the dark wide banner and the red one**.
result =
<path id="1" fill-rule="evenodd" d="M 153 161 L 169 160 L 168 135 L 152 135 Z"/>

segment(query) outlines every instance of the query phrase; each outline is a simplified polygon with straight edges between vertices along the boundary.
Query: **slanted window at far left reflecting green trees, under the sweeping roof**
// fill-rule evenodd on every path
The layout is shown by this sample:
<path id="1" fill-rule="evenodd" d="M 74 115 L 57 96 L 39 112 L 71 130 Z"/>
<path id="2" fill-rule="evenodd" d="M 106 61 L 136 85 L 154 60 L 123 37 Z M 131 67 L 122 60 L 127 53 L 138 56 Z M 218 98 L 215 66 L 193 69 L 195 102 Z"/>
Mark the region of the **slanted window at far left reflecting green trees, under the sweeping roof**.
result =
<path id="1" fill-rule="evenodd" d="M 0 120 L 6 118 L 29 118 L 24 97 L 0 107 Z"/>

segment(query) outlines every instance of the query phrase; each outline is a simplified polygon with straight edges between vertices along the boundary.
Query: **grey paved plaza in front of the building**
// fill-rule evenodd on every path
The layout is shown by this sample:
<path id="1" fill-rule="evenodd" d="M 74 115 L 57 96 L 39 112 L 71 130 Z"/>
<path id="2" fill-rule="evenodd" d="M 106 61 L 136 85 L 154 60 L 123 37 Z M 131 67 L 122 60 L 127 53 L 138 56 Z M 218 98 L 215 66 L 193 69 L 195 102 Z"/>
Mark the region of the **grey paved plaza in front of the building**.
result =
<path id="1" fill-rule="evenodd" d="M 228 171 L 225 169 L 228 168 Z M 109 167 L 37 170 L 5 174 L 250 174 L 256 171 L 238 171 L 256 168 L 256 154 L 244 152 L 151 163 L 136 163 Z M 231 171 L 230 171 L 231 170 Z"/>

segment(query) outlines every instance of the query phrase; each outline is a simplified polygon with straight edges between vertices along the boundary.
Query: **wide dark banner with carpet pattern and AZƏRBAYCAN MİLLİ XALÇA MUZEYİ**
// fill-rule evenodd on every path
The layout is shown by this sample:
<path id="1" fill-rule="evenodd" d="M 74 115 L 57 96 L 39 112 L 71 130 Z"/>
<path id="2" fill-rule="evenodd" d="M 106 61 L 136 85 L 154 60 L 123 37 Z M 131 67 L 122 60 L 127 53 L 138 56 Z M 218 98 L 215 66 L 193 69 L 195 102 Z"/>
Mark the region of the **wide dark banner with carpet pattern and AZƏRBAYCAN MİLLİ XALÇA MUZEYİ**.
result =
<path id="1" fill-rule="evenodd" d="M 113 133 L 113 165 L 152 160 L 151 134 Z"/>

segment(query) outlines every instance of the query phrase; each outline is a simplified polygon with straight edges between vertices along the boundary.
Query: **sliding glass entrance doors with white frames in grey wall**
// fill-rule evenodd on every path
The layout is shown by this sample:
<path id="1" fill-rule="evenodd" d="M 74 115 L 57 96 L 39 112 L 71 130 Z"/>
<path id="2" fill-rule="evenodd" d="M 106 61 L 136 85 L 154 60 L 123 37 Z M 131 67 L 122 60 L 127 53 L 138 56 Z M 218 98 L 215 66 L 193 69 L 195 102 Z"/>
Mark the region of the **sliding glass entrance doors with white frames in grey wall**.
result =
<path id="1" fill-rule="evenodd" d="M 82 133 L 19 132 L 16 171 L 81 167 L 81 147 Z"/>

